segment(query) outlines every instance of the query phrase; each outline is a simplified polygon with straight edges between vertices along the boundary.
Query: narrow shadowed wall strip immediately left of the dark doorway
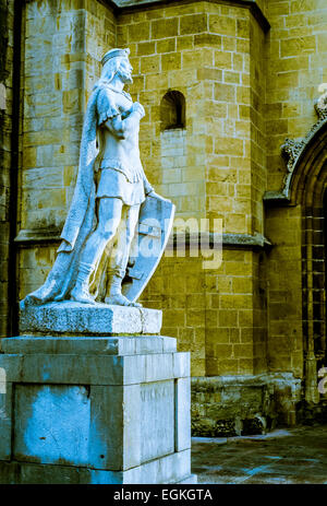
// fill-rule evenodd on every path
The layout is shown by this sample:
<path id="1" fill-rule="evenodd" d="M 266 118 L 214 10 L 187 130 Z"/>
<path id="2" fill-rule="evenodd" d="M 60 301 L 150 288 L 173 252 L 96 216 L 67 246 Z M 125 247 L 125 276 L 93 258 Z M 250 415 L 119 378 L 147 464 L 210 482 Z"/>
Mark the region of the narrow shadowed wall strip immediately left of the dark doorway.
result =
<path id="1" fill-rule="evenodd" d="M 266 233 L 276 245 L 266 258 L 269 370 L 303 375 L 301 209 L 270 209 Z"/>

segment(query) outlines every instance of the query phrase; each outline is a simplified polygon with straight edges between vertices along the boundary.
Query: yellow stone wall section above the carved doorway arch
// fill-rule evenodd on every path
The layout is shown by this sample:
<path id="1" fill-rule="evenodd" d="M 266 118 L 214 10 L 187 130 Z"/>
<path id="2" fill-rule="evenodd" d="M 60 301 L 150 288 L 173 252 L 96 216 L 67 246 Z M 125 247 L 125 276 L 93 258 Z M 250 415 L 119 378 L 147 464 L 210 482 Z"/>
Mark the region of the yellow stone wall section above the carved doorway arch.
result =
<path id="1" fill-rule="evenodd" d="M 268 189 L 279 190 L 286 173 L 280 146 L 304 137 L 316 121 L 313 102 L 327 82 L 327 5 L 324 0 L 268 1 L 267 45 Z"/>

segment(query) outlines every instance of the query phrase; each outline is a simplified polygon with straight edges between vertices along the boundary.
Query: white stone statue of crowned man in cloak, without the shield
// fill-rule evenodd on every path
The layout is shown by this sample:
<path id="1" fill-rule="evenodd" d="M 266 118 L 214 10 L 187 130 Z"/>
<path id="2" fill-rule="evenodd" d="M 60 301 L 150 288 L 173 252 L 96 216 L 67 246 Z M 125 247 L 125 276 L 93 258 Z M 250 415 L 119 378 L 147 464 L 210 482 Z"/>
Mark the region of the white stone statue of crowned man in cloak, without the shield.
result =
<path id="1" fill-rule="evenodd" d="M 129 49 L 111 49 L 102 58 L 102 73 L 85 114 L 78 175 L 62 243 L 45 284 L 28 294 L 22 306 L 69 298 L 95 304 L 90 280 L 113 238 L 116 254 L 109 258 L 106 302 L 141 306 L 122 294 L 122 280 L 140 207 L 146 196 L 161 198 L 148 183 L 140 160 L 138 130 L 144 108 L 123 91 L 133 82 L 129 54 Z"/>

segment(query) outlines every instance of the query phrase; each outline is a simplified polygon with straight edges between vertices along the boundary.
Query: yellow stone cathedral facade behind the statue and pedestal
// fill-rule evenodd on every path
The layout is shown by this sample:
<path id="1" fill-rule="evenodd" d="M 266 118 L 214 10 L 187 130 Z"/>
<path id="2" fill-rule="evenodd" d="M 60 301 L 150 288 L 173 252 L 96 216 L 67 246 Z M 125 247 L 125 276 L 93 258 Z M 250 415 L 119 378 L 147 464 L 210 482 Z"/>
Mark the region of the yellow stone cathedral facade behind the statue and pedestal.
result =
<path id="1" fill-rule="evenodd" d="M 324 419 L 326 0 L 0 9 L 1 337 L 53 263 L 101 58 L 128 47 L 144 168 L 177 207 L 142 303 L 191 351 L 193 434 Z"/>

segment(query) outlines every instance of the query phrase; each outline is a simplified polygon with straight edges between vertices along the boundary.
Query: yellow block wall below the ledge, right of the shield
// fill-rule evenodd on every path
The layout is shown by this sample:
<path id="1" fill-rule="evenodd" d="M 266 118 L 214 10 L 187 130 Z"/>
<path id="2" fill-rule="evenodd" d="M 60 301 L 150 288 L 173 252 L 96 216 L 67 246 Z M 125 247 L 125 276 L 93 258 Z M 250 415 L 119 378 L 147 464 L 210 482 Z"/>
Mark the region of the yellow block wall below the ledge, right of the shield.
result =
<path id="1" fill-rule="evenodd" d="M 182 258 L 165 256 L 142 302 L 164 309 L 162 333 L 178 338 L 180 351 L 192 352 L 193 376 L 265 370 L 262 307 L 253 301 L 257 252 L 223 249 L 218 270 L 203 269 L 203 258 L 191 255 L 192 247 Z"/>

